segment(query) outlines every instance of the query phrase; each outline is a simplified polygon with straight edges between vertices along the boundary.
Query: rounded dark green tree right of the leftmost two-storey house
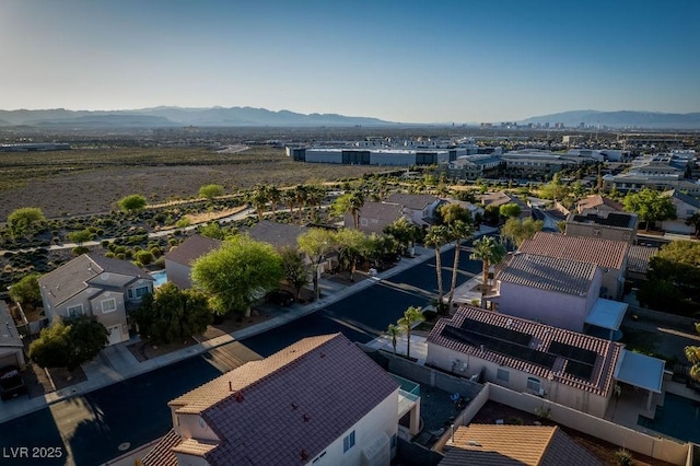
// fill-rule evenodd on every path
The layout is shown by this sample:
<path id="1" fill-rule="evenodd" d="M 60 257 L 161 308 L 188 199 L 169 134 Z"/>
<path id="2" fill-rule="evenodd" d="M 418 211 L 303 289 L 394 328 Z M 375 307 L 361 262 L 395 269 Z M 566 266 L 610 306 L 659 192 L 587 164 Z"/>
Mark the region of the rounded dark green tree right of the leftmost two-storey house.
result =
<path id="1" fill-rule="evenodd" d="M 213 314 L 200 290 L 179 290 L 167 282 L 143 296 L 133 318 L 141 335 L 170 343 L 203 333 Z"/>

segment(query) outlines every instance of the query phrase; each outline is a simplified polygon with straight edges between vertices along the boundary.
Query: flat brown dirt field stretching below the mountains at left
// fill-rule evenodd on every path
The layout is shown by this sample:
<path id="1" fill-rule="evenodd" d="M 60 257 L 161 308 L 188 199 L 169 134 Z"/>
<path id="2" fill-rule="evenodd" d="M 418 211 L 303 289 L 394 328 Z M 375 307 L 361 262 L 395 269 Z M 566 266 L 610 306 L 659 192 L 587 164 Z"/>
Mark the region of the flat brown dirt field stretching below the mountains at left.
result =
<path id="1" fill-rule="evenodd" d="M 293 162 L 281 149 L 254 148 L 218 154 L 206 148 L 98 149 L 4 153 L 0 160 L 0 220 L 21 207 L 47 218 L 109 212 L 131 194 L 149 202 L 196 197 L 199 187 L 222 185 L 226 194 L 258 183 L 294 186 L 385 171 L 369 165 Z"/>

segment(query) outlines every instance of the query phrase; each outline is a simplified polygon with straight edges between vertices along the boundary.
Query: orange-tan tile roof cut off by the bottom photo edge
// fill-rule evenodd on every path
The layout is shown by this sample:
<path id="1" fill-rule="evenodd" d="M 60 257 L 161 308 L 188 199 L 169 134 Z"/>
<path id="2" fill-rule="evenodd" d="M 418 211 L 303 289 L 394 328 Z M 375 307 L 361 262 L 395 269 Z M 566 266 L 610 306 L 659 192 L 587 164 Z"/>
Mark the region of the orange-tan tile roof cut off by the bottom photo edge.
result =
<path id="1" fill-rule="evenodd" d="M 600 463 L 558 427 L 460 426 L 445 445 L 440 466 L 599 466 Z"/>

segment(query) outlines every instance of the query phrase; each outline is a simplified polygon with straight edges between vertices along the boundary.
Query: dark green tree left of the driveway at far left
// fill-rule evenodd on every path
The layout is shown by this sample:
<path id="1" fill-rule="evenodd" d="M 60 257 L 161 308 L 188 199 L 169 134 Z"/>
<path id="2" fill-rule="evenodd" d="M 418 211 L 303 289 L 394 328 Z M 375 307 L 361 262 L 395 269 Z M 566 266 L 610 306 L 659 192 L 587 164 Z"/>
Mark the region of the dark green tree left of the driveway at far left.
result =
<path id="1" fill-rule="evenodd" d="M 73 371 L 91 361 L 107 345 L 104 325 L 91 317 L 74 317 L 54 323 L 30 345 L 30 359 L 40 368 L 67 368 Z"/>

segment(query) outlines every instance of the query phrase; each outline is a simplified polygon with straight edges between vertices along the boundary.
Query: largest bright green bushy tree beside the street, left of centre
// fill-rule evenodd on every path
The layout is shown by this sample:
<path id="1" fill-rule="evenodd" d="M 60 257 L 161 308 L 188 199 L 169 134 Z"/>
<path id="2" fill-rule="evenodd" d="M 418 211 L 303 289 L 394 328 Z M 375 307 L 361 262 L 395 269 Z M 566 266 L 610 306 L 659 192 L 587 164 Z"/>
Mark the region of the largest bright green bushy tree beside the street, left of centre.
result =
<path id="1" fill-rule="evenodd" d="M 191 273 L 215 313 L 249 316 L 253 303 L 279 286 L 282 258 L 270 244 L 236 235 L 195 260 Z"/>

